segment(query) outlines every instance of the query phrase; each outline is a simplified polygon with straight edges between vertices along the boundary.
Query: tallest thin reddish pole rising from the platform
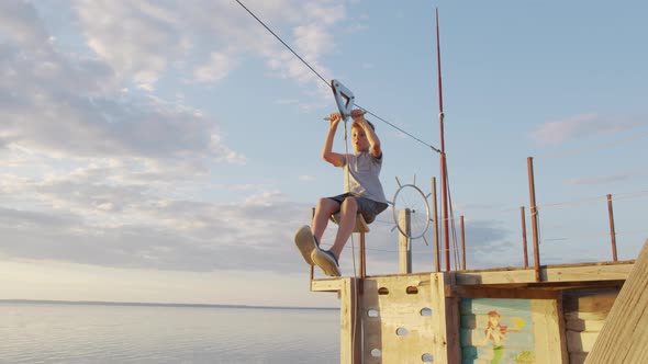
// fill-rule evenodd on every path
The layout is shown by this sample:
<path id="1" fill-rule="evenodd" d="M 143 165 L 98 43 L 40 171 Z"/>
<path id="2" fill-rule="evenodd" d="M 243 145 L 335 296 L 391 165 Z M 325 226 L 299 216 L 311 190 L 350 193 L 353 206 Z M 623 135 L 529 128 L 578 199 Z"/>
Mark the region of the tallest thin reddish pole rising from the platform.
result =
<path id="1" fill-rule="evenodd" d="M 448 228 L 448 187 L 446 185 L 447 168 L 446 168 L 446 143 L 444 138 L 444 95 L 442 88 L 442 50 L 438 32 L 438 8 L 436 8 L 436 65 L 438 73 L 438 123 L 440 128 L 440 167 L 442 167 L 442 205 L 444 214 L 444 250 L 446 252 L 446 272 L 450 271 L 450 240 Z"/>

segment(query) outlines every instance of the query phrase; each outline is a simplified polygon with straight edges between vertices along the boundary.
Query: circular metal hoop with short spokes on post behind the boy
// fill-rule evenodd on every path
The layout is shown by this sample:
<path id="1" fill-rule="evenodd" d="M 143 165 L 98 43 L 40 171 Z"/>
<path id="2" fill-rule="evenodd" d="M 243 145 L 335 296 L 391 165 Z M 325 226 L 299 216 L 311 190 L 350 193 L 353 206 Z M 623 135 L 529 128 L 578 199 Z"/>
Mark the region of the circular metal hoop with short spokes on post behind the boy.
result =
<path id="1" fill-rule="evenodd" d="M 402 209 L 410 211 L 410 229 L 399 224 L 399 214 Z M 398 189 L 393 198 L 392 217 L 403 236 L 410 239 L 423 237 L 429 227 L 429 205 L 423 191 L 414 184 L 404 184 Z"/>

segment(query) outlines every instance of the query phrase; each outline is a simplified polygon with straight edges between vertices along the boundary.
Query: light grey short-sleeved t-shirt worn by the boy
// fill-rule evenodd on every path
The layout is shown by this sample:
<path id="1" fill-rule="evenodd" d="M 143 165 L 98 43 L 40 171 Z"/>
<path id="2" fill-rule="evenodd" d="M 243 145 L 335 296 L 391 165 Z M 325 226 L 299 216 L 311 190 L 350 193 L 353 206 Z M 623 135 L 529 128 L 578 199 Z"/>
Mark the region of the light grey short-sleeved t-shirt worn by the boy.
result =
<path id="1" fill-rule="evenodd" d="M 380 169 L 382 168 L 382 156 L 376 158 L 368 151 L 357 155 L 348 155 L 349 172 L 347 163 L 343 162 L 344 191 L 357 194 L 361 197 L 387 204 L 382 184 L 380 183 Z"/>

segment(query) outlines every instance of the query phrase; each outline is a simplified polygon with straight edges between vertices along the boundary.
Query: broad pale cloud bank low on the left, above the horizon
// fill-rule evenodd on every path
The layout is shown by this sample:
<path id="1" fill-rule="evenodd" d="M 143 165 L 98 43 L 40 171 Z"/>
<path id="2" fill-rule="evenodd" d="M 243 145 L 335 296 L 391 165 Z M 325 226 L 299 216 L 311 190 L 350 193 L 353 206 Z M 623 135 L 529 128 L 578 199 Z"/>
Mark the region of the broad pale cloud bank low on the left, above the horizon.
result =
<path id="1" fill-rule="evenodd" d="M 13 258 L 103 266 L 286 272 L 291 261 L 284 257 L 294 253 L 292 230 L 301 215 L 310 213 L 300 204 L 268 200 L 163 201 L 146 197 L 144 189 L 129 194 L 124 187 L 78 187 L 58 183 L 42 191 L 62 202 L 57 208 L 0 208 L 0 251 Z M 121 206 L 120 215 L 102 208 L 113 203 Z"/>

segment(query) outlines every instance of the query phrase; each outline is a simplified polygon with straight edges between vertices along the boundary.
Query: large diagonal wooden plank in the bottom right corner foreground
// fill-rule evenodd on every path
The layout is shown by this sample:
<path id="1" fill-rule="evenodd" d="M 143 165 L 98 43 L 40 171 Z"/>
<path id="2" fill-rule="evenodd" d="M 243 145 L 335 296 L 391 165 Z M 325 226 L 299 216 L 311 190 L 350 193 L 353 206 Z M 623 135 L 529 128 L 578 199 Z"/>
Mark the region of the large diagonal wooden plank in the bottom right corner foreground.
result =
<path id="1" fill-rule="evenodd" d="M 586 364 L 648 363 L 648 240 L 607 316 Z"/>

